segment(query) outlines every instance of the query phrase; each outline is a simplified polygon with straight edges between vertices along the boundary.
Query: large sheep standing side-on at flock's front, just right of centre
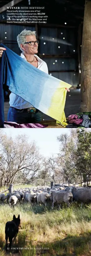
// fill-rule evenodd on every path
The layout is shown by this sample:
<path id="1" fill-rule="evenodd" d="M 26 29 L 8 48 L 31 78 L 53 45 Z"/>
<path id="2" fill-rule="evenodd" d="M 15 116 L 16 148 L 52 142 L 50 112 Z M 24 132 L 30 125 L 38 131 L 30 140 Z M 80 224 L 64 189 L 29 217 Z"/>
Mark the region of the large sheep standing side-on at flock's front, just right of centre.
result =
<path id="1" fill-rule="evenodd" d="M 70 206 L 70 202 L 73 201 L 73 195 L 71 192 L 62 192 L 62 191 L 51 191 L 50 196 L 53 198 L 53 204 L 52 207 L 54 207 L 54 203 L 60 204 L 59 207 L 63 202 L 67 204 L 67 206 Z"/>

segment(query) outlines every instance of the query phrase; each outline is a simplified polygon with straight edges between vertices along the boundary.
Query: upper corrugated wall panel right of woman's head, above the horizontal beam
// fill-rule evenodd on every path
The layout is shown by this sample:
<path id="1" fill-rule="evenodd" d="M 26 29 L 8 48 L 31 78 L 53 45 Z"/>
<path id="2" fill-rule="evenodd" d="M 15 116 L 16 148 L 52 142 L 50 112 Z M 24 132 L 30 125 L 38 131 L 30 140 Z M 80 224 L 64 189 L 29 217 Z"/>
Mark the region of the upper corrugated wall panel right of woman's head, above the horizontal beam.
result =
<path id="1" fill-rule="evenodd" d="M 60 48 L 58 48 L 58 46 L 60 46 Z M 60 28 L 60 29 L 41 28 L 40 53 L 41 54 L 43 53 L 44 54 L 64 54 L 64 52 L 66 54 L 71 53 L 74 55 L 75 53 L 77 53 L 77 29 L 75 28 L 74 29 L 73 28 Z"/>

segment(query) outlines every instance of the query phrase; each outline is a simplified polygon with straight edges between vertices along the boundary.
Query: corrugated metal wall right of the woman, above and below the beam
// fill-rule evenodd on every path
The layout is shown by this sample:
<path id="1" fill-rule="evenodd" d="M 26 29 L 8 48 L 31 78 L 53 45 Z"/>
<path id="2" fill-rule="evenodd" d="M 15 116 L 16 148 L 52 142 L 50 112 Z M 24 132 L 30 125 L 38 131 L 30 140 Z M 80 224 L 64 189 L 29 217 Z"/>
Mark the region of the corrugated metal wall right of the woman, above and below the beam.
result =
<path id="1" fill-rule="evenodd" d="M 72 55 L 72 58 L 42 58 L 48 66 L 49 74 L 68 82 L 72 86 L 79 84 L 77 61 L 77 28 L 41 28 L 40 54 Z M 63 39 L 65 38 L 65 39 Z M 45 43 L 45 44 L 44 44 Z M 60 46 L 60 48 L 58 47 Z M 64 62 L 64 63 L 62 63 Z M 55 63 L 55 64 L 53 64 Z M 60 71 L 69 72 L 60 72 Z M 71 72 L 73 70 L 73 72 Z M 57 71 L 57 72 L 56 72 Z M 58 72 L 59 71 L 59 72 Z"/>

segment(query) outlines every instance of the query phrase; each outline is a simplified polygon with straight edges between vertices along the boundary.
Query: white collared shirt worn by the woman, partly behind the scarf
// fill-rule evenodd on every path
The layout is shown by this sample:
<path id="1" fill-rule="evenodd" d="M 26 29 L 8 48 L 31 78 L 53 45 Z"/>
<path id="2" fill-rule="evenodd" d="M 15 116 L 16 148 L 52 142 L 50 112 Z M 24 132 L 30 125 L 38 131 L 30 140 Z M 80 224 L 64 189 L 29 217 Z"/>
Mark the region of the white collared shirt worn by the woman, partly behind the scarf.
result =
<path id="1" fill-rule="evenodd" d="M 38 60 L 38 67 L 37 68 L 48 74 L 48 68 L 47 68 L 46 62 L 43 61 L 42 59 L 40 59 L 36 54 L 34 54 L 34 56 Z M 26 60 L 23 52 L 21 53 L 20 57 L 24 58 L 24 60 Z M 33 107 L 33 105 L 31 105 L 26 100 L 23 100 L 23 98 L 21 98 L 20 96 L 16 95 L 15 93 L 10 93 L 9 104 L 10 104 L 10 107 L 15 107 L 15 108 L 18 108 L 18 109 Z"/>

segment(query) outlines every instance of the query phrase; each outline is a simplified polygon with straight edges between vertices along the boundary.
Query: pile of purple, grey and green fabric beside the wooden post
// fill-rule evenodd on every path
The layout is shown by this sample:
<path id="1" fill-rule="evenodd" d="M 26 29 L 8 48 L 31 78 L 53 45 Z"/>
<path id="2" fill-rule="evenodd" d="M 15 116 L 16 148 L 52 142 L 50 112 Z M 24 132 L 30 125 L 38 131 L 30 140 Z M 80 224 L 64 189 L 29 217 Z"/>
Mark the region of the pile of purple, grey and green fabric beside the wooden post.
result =
<path id="1" fill-rule="evenodd" d="M 67 128 L 91 128 L 91 112 L 73 114 L 68 117 Z"/>

